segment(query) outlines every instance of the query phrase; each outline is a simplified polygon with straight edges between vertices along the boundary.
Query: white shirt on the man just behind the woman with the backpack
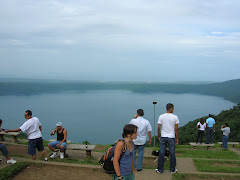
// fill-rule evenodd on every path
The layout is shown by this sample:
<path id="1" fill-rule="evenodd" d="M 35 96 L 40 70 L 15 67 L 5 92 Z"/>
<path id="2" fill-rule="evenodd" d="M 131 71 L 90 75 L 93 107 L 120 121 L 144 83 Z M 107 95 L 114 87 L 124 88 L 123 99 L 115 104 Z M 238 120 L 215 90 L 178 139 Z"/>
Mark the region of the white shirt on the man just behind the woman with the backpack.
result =
<path id="1" fill-rule="evenodd" d="M 138 117 L 137 119 L 132 119 L 129 124 L 133 124 L 138 127 L 138 136 L 137 139 L 133 140 L 134 144 L 144 145 L 147 141 L 147 132 L 152 131 L 149 121 L 143 117 Z"/>

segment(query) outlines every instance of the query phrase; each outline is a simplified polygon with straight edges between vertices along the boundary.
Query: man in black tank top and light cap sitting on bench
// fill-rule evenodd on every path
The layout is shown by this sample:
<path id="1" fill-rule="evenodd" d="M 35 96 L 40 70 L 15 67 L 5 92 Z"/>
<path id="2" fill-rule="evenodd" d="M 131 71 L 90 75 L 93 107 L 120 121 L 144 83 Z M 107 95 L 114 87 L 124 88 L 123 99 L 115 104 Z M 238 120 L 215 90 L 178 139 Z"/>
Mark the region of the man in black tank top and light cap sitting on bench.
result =
<path id="1" fill-rule="evenodd" d="M 50 142 L 48 147 L 53 152 L 50 156 L 51 158 L 55 158 L 57 156 L 57 151 L 54 148 L 60 149 L 60 158 L 64 158 L 64 151 L 67 146 L 67 130 L 62 127 L 62 123 L 58 122 L 56 124 L 57 128 L 51 132 L 51 136 L 57 132 L 57 141 Z"/>

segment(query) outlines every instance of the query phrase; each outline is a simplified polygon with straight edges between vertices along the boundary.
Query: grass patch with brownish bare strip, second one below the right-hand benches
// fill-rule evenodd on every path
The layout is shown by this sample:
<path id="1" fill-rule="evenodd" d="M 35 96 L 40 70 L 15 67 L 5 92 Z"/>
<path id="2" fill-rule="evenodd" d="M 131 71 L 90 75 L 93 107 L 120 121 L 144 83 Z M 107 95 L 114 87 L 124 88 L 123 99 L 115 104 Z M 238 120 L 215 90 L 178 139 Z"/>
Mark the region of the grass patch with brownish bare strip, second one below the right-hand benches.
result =
<path id="1" fill-rule="evenodd" d="M 202 172 L 240 173 L 239 161 L 210 161 L 194 159 L 194 164 L 197 167 L 197 170 Z"/>

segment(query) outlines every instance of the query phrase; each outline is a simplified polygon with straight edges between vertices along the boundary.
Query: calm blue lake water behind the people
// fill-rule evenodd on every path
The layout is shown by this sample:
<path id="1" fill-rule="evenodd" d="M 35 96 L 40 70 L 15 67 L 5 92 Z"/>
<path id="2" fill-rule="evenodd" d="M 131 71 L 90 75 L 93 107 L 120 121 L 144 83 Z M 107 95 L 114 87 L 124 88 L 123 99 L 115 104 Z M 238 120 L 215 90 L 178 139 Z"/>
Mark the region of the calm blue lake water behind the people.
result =
<path id="1" fill-rule="evenodd" d="M 136 114 L 137 109 L 145 111 L 145 118 L 154 127 L 154 106 L 156 104 L 155 135 L 158 116 L 165 112 L 165 106 L 175 105 L 180 126 L 189 121 L 219 114 L 235 104 L 214 96 L 198 94 L 141 94 L 124 90 L 67 92 L 31 96 L 0 96 L 0 118 L 3 128 L 16 129 L 24 122 L 25 110 L 40 119 L 43 138 L 52 139 L 50 132 L 58 121 L 68 131 L 68 139 L 74 143 L 89 141 L 93 144 L 111 144 L 121 138 L 122 128 Z M 152 131 L 152 135 L 154 131 Z M 56 137 L 55 137 L 56 138 Z"/>

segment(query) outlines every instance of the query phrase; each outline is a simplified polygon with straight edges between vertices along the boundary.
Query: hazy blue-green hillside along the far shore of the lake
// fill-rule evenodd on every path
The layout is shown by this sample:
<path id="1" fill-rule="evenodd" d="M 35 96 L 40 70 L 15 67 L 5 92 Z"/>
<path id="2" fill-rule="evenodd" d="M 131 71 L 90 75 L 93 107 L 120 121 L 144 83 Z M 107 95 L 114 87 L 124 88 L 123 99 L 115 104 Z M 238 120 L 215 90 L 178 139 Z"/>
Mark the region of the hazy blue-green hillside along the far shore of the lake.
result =
<path id="1" fill-rule="evenodd" d="M 223 97 L 235 103 L 240 102 L 240 79 L 210 84 L 176 83 L 127 83 L 127 82 L 78 82 L 78 81 L 1 81 L 0 96 L 59 93 L 65 91 L 84 92 L 88 90 L 129 90 L 138 93 L 195 93 Z"/>

